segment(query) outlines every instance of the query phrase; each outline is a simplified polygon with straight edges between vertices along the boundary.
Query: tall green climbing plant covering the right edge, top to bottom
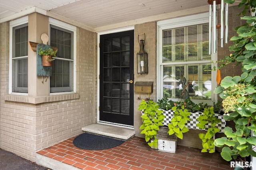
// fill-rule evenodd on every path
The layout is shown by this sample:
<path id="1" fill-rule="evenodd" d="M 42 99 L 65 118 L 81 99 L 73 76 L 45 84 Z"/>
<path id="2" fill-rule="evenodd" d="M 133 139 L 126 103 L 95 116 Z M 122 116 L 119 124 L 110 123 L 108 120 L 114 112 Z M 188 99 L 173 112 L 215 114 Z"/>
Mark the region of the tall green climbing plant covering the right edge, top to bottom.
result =
<path id="1" fill-rule="evenodd" d="M 224 0 L 232 4 L 235 0 Z M 244 7 L 241 20 L 244 25 L 236 28 L 238 35 L 232 37 L 233 45 L 229 47 L 232 52 L 226 56 L 219 68 L 228 63 L 236 62 L 242 65 L 241 76 L 225 77 L 214 92 L 223 99 L 224 119 L 234 121 L 235 129 L 226 127 L 226 137 L 216 139 L 214 145 L 223 147 L 221 156 L 230 161 L 238 155 L 242 157 L 256 156 L 253 146 L 256 145 L 256 16 L 255 0 L 242 0 L 239 7 Z M 251 10 L 251 11 L 250 11 Z"/>

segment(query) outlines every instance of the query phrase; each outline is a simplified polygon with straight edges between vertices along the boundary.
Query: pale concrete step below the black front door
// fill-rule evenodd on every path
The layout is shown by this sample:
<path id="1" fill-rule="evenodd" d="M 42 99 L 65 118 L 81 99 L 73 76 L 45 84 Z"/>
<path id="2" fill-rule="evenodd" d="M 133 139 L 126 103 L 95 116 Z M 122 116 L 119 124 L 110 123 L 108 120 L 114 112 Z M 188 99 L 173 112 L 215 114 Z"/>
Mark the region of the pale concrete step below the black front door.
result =
<path id="1" fill-rule="evenodd" d="M 82 131 L 94 133 L 98 135 L 104 135 L 122 140 L 128 140 L 135 135 L 135 131 L 124 127 L 116 127 L 104 124 L 91 124 L 86 127 L 82 127 Z"/>

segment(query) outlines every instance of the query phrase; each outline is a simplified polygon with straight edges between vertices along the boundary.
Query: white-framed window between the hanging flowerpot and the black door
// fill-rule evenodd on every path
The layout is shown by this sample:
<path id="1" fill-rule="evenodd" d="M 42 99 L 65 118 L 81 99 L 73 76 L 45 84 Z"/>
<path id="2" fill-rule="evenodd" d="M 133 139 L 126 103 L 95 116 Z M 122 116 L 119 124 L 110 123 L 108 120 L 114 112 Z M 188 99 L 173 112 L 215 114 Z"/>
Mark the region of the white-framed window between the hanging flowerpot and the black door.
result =
<path id="1" fill-rule="evenodd" d="M 51 21 L 50 45 L 57 47 L 58 52 L 52 64 L 50 93 L 74 92 L 74 37 L 76 28 L 72 25 L 63 28 L 60 27 L 60 24 L 54 25 L 54 20 Z"/>

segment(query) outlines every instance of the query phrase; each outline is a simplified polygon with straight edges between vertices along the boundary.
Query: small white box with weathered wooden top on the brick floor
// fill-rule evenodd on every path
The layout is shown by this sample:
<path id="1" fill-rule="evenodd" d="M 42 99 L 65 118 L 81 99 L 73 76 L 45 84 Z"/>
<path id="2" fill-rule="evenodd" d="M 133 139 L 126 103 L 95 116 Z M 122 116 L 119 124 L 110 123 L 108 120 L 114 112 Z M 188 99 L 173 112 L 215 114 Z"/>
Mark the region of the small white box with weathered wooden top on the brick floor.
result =
<path id="1" fill-rule="evenodd" d="M 156 135 L 158 139 L 158 150 L 163 152 L 176 152 L 177 137 L 175 135 L 168 135 L 168 127 L 160 127 Z"/>

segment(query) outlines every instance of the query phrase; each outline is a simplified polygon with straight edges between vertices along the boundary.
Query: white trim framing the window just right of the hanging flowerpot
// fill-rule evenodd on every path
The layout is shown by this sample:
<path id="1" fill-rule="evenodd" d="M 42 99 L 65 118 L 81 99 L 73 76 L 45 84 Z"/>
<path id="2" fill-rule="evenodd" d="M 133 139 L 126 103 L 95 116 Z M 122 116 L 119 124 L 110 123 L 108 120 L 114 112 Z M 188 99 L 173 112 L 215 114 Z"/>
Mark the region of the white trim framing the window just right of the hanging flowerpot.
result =
<path id="1" fill-rule="evenodd" d="M 56 93 L 50 93 L 50 81 L 49 81 L 49 94 L 69 94 L 69 93 L 75 93 L 76 92 L 76 26 L 70 25 L 68 23 L 64 23 L 59 20 L 55 20 L 53 18 L 49 18 L 49 33 L 50 33 L 50 25 L 55 25 L 60 28 L 67 29 L 69 31 L 72 31 L 74 34 L 73 36 L 73 42 L 74 42 L 74 50 L 73 50 L 73 60 L 74 60 L 74 66 L 73 66 L 73 92 L 56 92 Z M 48 42 L 50 43 L 50 42 Z"/>

